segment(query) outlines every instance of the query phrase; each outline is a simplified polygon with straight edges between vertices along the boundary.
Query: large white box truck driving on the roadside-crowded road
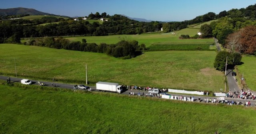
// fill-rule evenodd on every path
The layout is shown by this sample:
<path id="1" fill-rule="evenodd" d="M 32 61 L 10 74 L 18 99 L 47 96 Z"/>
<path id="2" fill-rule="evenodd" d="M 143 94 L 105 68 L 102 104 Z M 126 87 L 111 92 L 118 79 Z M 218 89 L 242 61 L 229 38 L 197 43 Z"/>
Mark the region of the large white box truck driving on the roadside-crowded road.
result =
<path id="1" fill-rule="evenodd" d="M 123 91 L 122 85 L 110 82 L 97 82 L 96 89 L 100 91 L 112 91 L 116 93 L 121 93 Z"/>

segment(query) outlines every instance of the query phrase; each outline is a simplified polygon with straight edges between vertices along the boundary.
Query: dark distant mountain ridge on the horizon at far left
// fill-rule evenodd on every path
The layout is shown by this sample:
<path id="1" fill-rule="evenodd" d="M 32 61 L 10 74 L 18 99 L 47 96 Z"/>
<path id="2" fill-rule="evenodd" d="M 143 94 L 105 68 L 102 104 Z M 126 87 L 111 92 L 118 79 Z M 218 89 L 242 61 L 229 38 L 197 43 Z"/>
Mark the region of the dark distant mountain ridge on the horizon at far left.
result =
<path id="1" fill-rule="evenodd" d="M 8 8 L 0 9 L 0 16 L 10 16 L 19 14 L 30 14 L 30 15 L 50 15 L 49 13 L 40 12 L 38 10 L 29 8 Z"/>

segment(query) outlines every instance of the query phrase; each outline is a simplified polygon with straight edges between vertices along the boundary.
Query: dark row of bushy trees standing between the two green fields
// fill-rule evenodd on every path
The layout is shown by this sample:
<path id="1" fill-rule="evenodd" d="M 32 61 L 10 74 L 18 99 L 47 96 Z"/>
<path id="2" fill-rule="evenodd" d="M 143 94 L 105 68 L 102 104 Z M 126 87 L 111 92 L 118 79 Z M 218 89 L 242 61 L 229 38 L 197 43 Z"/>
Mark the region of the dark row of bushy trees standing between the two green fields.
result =
<path id="1" fill-rule="evenodd" d="M 33 45 L 40 47 L 50 47 L 55 49 L 66 49 L 66 50 L 78 50 L 84 52 L 100 52 L 106 53 L 114 57 L 122 57 L 123 59 L 133 58 L 142 54 L 141 50 L 145 49 L 145 45 L 138 45 L 138 41 L 119 41 L 116 44 L 100 43 L 87 43 L 86 39 L 82 39 L 82 42 L 75 41 L 70 42 L 68 39 L 63 37 L 43 37 L 37 39 L 30 39 L 24 45 Z"/>

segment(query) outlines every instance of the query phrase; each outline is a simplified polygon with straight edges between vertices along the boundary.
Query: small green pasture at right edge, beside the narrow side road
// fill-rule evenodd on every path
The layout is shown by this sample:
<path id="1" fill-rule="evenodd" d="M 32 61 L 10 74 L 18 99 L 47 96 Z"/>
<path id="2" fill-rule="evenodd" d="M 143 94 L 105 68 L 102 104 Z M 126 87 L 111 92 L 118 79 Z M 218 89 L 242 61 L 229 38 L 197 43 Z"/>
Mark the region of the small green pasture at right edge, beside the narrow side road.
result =
<path id="1" fill-rule="evenodd" d="M 255 83 L 255 74 L 256 74 L 256 57 L 254 56 L 243 56 L 242 62 L 244 64 L 238 65 L 238 71 L 240 79 L 242 78 L 242 74 L 244 73 L 244 79 L 248 87 L 254 91 L 256 91 L 256 83 Z"/>

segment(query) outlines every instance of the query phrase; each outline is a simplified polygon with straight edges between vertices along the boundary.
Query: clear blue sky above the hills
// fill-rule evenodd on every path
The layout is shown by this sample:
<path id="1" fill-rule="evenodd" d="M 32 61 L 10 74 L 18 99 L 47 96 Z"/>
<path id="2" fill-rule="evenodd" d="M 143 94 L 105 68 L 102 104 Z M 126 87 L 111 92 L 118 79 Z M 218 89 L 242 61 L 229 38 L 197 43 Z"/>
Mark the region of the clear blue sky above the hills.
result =
<path id="1" fill-rule="evenodd" d="M 70 17 L 106 12 L 154 21 L 184 21 L 254 4 L 256 0 L 1 0 L 0 8 L 33 8 Z"/>

